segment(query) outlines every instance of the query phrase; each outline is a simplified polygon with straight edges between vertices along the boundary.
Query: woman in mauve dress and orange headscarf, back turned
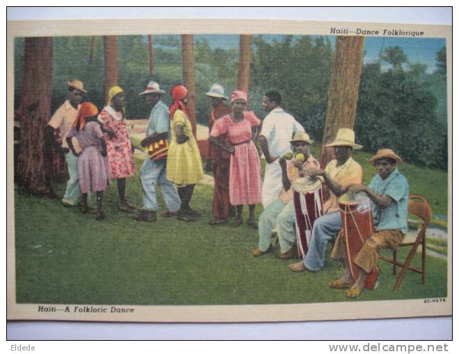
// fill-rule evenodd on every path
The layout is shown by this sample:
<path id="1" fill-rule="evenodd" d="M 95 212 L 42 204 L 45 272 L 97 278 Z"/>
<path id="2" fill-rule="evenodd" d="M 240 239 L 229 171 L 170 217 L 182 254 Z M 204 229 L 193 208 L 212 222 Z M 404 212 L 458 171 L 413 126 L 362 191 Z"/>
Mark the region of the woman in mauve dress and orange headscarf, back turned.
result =
<path id="1" fill-rule="evenodd" d="M 83 196 L 81 212 L 88 212 L 88 193 L 96 192 L 97 195 L 97 220 L 105 218 L 102 212 L 102 196 L 104 189 L 111 183 L 110 169 L 106 160 L 107 149 L 104 133 L 97 121 L 97 107 L 90 102 L 81 104 L 77 119 L 67 134 L 67 144 L 75 156 L 78 156 L 78 180 Z M 72 137 L 77 137 L 83 150 L 75 151 Z"/>

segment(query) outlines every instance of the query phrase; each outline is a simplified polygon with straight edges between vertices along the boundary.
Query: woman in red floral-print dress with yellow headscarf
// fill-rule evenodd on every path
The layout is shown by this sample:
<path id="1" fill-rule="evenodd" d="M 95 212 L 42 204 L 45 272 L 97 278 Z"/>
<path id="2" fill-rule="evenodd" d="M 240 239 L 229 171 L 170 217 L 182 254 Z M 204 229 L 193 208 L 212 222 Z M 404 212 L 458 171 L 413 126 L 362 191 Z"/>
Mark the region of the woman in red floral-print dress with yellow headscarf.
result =
<path id="1" fill-rule="evenodd" d="M 134 155 L 124 119 L 124 92 L 121 87 L 113 86 L 108 91 L 108 105 L 100 112 L 99 121 L 104 125 L 104 131 L 109 133 L 106 135 L 108 165 L 111 176 L 118 181 L 118 208 L 128 212 L 136 208 L 126 200 L 126 177 L 134 175 Z"/>

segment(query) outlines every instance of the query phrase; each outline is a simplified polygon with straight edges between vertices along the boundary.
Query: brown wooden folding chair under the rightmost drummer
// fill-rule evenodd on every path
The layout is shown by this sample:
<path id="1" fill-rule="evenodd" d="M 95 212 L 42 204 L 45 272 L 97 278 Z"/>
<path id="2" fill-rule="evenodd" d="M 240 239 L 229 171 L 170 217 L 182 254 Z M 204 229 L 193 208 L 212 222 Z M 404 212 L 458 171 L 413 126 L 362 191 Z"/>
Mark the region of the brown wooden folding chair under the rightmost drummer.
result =
<path id="1" fill-rule="evenodd" d="M 399 246 L 412 246 L 410 253 L 408 253 L 408 256 L 405 260 L 405 262 L 399 262 L 397 260 L 397 250 L 393 251 L 393 258 L 387 258 L 383 255 L 380 255 L 381 260 L 385 260 L 386 262 L 392 263 L 392 273 L 394 276 L 396 275 L 396 267 L 401 267 L 400 274 L 398 275 L 398 278 L 395 282 L 394 287 L 392 287 L 392 291 L 396 291 L 398 287 L 400 287 L 401 282 L 403 281 L 403 278 L 405 278 L 405 274 L 408 271 L 415 271 L 417 273 L 421 274 L 421 281 L 422 284 L 426 282 L 426 228 L 428 225 L 428 222 L 430 221 L 430 216 L 432 215 L 432 209 L 430 208 L 430 205 L 428 204 L 428 201 L 424 199 L 423 196 L 419 196 L 417 194 L 412 194 L 408 198 L 408 214 L 414 214 L 417 217 L 421 218 L 423 223 L 421 228 L 419 229 L 419 233 L 417 234 L 416 239 L 414 242 L 403 242 Z M 422 265 L 421 269 L 417 267 L 410 267 L 410 263 L 416 254 L 417 247 L 419 244 L 422 245 Z"/>

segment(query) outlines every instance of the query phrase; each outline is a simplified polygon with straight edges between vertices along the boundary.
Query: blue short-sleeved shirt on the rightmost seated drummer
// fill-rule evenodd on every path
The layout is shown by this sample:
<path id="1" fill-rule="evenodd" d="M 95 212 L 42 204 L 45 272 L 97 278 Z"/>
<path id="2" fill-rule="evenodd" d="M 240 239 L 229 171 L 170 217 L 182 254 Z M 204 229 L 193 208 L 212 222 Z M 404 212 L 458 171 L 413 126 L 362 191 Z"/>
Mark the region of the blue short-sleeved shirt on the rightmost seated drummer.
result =
<path id="1" fill-rule="evenodd" d="M 394 199 L 386 208 L 380 208 L 371 201 L 376 231 L 401 230 L 404 234 L 408 233 L 409 187 L 405 176 L 395 168 L 385 180 L 378 174 L 374 176 L 368 187 L 381 196 L 388 195 Z"/>

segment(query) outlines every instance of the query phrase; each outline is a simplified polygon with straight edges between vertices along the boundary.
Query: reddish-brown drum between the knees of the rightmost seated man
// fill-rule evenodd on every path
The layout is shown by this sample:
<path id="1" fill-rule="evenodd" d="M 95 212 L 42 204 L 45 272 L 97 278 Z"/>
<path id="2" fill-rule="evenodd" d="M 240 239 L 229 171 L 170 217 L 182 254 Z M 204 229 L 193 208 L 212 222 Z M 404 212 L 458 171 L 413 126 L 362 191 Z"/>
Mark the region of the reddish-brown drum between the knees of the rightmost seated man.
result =
<path id="1" fill-rule="evenodd" d="M 341 236 L 346 249 L 346 261 L 354 279 L 359 276 L 360 269 L 353 260 L 368 237 L 375 232 L 371 202 L 364 192 L 356 194 L 343 194 L 339 198 L 339 211 L 341 214 Z M 368 274 L 365 281 L 366 289 L 373 289 L 378 279 L 378 268 Z"/>

